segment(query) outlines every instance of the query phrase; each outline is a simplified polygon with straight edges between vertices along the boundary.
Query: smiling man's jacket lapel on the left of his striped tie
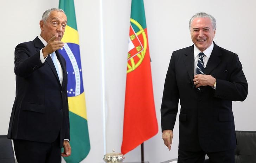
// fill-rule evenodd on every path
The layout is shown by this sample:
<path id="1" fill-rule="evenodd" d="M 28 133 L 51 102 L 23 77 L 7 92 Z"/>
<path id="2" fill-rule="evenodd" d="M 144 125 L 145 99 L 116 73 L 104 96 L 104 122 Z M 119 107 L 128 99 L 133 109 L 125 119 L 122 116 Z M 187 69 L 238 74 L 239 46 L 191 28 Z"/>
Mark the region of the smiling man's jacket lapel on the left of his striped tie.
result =
<path id="1" fill-rule="evenodd" d="M 185 55 L 184 62 L 186 65 L 185 67 L 192 83 L 194 83 L 193 81 L 194 79 L 194 47 L 193 46 L 191 46 L 190 50 L 188 50 L 184 54 Z"/>

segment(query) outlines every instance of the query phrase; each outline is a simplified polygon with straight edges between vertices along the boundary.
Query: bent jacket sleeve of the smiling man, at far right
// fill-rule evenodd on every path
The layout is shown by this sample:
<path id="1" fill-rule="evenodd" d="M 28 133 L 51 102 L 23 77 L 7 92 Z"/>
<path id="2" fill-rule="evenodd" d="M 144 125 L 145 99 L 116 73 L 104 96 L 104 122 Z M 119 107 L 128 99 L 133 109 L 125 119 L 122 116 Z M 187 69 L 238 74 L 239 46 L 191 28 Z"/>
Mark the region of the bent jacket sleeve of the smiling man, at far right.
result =
<path id="1" fill-rule="evenodd" d="M 233 55 L 229 67 L 229 81 L 216 79 L 214 96 L 231 101 L 244 101 L 248 94 L 248 83 L 237 54 Z"/>

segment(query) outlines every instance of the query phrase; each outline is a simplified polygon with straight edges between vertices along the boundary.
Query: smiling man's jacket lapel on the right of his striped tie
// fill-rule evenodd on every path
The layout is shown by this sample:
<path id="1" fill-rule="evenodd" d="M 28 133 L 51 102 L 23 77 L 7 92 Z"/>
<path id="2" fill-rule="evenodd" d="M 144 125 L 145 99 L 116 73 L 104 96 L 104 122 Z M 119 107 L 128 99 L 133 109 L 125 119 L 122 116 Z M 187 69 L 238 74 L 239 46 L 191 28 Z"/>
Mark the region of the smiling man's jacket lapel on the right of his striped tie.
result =
<path id="1" fill-rule="evenodd" d="M 220 56 L 222 56 L 222 54 L 220 53 L 219 47 L 213 42 L 214 46 L 213 46 L 213 50 L 211 53 L 211 56 L 209 58 L 209 61 L 205 67 L 205 74 L 210 74 L 212 72 L 212 70 L 218 66 L 218 64 L 220 63 Z"/>

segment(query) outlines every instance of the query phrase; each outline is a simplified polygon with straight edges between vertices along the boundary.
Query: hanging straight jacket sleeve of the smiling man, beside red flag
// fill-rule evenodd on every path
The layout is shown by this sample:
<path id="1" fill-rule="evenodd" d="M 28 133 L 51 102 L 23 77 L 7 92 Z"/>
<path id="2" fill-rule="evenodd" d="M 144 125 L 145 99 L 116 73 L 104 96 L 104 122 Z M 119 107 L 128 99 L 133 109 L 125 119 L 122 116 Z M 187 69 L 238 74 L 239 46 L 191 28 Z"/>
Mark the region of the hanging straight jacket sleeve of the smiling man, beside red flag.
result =
<path id="1" fill-rule="evenodd" d="M 179 91 L 175 75 L 174 52 L 171 56 L 169 68 L 167 70 L 164 93 L 161 106 L 161 125 L 163 130 L 173 130 L 178 113 Z"/>

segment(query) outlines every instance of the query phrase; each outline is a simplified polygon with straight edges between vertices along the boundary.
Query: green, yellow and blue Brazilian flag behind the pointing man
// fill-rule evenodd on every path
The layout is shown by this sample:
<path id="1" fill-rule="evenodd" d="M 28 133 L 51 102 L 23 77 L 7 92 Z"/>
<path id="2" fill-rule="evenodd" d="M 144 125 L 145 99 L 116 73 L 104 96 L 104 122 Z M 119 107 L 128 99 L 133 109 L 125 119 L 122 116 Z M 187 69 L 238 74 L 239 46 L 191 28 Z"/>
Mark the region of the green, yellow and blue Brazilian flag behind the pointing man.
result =
<path id="1" fill-rule="evenodd" d="M 66 60 L 68 74 L 68 102 L 70 118 L 71 156 L 64 157 L 67 163 L 81 162 L 90 151 L 90 141 L 83 88 L 79 39 L 73 0 L 59 0 L 59 8 L 65 11 L 68 24 L 59 50 Z"/>

